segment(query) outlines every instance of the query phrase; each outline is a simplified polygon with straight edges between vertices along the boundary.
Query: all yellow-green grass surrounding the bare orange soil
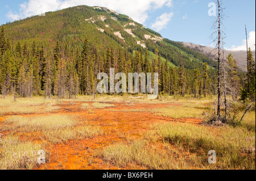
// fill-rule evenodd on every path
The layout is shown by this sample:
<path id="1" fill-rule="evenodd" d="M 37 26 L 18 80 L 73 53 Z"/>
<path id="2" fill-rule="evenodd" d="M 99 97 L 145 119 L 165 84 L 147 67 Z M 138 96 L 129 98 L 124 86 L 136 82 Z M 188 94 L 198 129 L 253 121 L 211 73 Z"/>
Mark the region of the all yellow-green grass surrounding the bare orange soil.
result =
<path id="1" fill-rule="evenodd" d="M 167 99 L 168 98 L 168 99 Z M 213 99 L 181 98 L 162 96 L 159 100 L 147 99 L 146 95 L 112 96 L 97 95 L 78 96 L 77 99 L 44 99 L 44 98 L 0 98 L 0 115 L 8 113 L 30 114 L 45 113 L 59 109 L 55 104 L 65 102 L 82 102 L 82 109 L 111 108 L 108 102 L 133 103 L 171 103 L 173 106 L 155 109 L 119 110 L 125 112 L 151 112 L 174 119 L 198 118 L 207 119 L 205 112 L 213 111 Z M 86 102 L 94 102 L 93 104 Z M 106 102 L 106 103 L 101 103 Z M 96 110 L 94 110 L 96 111 Z M 109 110 L 115 111 L 115 110 Z M 90 111 L 92 112 L 92 111 Z M 97 112 L 97 111 L 96 111 Z M 237 110 L 240 120 L 244 108 Z M 92 138 L 104 134 L 100 127 L 79 121 L 76 116 L 12 116 L 0 123 L 0 131 L 9 135 L 0 140 L 0 169 L 32 169 L 36 167 L 37 151 L 42 145 L 31 141 L 22 142 L 17 135 L 38 133 L 34 140 L 50 144 L 65 143 L 68 140 Z M 35 135 L 38 135 L 35 134 Z M 123 132 L 117 132 L 126 141 L 105 147 L 98 155 L 118 169 L 255 169 L 255 110 L 246 113 L 241 123 L 213 127 L 188 123 L 165 123 L 152 125 L 139 140 L 130 140 Z M 14 136 L 16 135 L 16 136 Z M 215 150 L 216 165 L 208 163 L 208 151 Z"/>

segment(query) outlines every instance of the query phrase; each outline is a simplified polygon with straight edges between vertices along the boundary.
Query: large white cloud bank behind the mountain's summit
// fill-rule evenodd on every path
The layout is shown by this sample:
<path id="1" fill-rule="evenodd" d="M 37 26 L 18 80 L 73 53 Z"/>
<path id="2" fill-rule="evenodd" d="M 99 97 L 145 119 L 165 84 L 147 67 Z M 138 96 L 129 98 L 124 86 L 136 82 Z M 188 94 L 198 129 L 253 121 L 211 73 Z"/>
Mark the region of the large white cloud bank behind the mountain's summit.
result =
<path id="1" fill-rule="evenodd" d="M 20 5 L 19 13 L 9 12 L 7 17 L 11 20 L 39 15 L 47 11 L 65 9 L 67 7 L 88 5 L 109 7 L 121 14 L 126 14 L 139 23 L 148 18 L 147 11 L 159 9 L 163 6 L 172 6 L 172 0 L 28 0 Z"/>

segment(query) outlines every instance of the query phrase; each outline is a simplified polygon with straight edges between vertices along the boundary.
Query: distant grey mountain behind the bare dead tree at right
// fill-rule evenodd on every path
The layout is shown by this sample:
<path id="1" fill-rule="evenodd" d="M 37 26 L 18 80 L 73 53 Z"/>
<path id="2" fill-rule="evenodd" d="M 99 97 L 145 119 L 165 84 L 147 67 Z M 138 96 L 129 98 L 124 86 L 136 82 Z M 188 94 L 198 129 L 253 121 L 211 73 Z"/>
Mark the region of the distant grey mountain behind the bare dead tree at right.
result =
<path id="1" fill-rule="evenodd" d="M 197 45 L 193 43 L 182 43 L 185 47 L 191 48 L 197 52 L 203 53 L 207 55 L 209 58 L 213 59 L 214 54 L 216 54 L 216 50 L 212 47 L 205 47 L 202 45 Z M 246 51 L 232 51 L 232 50 L 225 50 L 226 57 L 228 57 L 229 54 L 232 54 L 234 59 L 237 60 L 237 66 L 243 71 L 247 70 L 247 52 Z M 255 50 L 253 51 L 253 56 L 255 60 Z"/>

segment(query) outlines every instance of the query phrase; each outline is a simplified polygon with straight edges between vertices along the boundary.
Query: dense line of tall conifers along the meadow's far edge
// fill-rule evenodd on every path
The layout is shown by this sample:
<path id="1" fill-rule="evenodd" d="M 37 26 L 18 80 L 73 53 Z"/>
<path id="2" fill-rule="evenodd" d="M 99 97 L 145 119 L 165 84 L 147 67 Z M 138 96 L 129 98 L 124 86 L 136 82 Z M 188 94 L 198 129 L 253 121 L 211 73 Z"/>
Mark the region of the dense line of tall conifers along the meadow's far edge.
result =
<path id="1" fill-rule="evenodd" d="M 71 47 L 58 40 L 52 46 L 41 41 L 11 44 L 0 32 L 0 94 L 28 97 L 44 95 L 46 98 L 76 98 L 76 95 L 98 94 L 98 73 L 109 74 L 110 68 L 118 73 L 159 73 L 159 93 L 190 95 L 201 98 L 216 95 L 216 69 L 204 62 L 200 68 L 185 69 L 183 55 L 179 66 L 168 65 L 168 58 L 161 57 L 158 49 L 152 55 L 145 49 L 130 53 L 125 48 L 96 48 L 88 39 L 82 47 Z M 252 58 L 251 52 L 249 57 Z M 230 54 L 226 58 L 230 76 L 229 94 L 234 99 L 240 94 L 242 73 Z M 251 61 L 251 79 L 255 85 L 255 64 Z M 254 66 L 254 69 L 253 69 Z M 254 70 L 254 76 L 253 76 Z M 246 86 L 246 85 L 244 85 Z M 243 87 L 243 86 L 242 86 Z M 250 86 L 253 89 L 253 85 Z M 243 92 L 243 89 L 242 89 Z M 253 90 L 247 95 L 253 95 Z M 255 89 L 254 89 L 255 97 Z"/>

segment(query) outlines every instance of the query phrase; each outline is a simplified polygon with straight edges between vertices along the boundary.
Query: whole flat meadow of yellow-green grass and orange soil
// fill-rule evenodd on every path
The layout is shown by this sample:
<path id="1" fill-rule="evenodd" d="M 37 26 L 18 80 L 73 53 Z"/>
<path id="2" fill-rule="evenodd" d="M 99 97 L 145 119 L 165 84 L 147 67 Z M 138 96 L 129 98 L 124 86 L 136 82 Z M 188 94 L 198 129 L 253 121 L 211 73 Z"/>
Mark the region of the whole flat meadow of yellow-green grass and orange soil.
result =
<path id="1" fill-rule="evenodd" d="M 205 124 L 213 98 L 0 98 L 0 170 L 255 169 L 255 110 Z M 46 163 L 38 163 L 38 151 Z M 216 164 L 208 163 L 214 150 Z"/>

